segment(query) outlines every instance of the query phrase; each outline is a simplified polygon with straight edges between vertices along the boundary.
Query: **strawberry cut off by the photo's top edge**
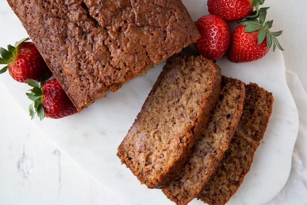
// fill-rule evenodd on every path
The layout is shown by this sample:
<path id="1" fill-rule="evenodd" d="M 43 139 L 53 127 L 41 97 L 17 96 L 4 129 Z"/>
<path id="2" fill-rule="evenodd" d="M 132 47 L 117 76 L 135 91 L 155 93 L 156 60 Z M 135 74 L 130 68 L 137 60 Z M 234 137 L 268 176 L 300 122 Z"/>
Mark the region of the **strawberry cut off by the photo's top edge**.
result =
<path id="1" fill-rule="evenodd" d="M 264 0 L 208 0 L 207 2 L 209 13 L 223 18 L 226 22 L 250 16 L 254 6 L 263 3 Z"/>

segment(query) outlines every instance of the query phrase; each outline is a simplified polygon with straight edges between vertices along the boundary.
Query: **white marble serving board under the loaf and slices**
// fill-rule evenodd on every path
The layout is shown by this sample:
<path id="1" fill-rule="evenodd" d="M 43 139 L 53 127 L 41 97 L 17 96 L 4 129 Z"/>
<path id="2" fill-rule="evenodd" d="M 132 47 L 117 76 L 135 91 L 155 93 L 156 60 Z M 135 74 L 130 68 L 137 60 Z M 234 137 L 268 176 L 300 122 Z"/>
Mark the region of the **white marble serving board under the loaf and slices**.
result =
<path id="1" fill-rule="evenodd" d="M 206 1 L 183 2 L 193 20 L 208 13 Z M 6 1 L 0 2 L 0 13 L 1 18 L 6 19 L 2 28 L 14 31 L 0 33 L 0 46 L 13 44 L 27 36 Z M 185 49 L 184 52 L 195 51 Z M 258 61 L 241 64 L 231 63 L 224 57 L 217 64 L 222 68 L 223 75 L 239 78 L 245 83 L 256 82 L 273 93 L 273 113 L 264 140 L 255 153 L 251 171 L 228 204 L 266 203 L 282 189 L 288 179 L 299 123 L 297 108 L 286 84 L 282 53 L 270 52 Z M 161 63 L 144 76 L 126 83 L 119 91 L 109 93 L 80 114 L 60 120 L 39 121 L 37 117 L 33 120 L 36 128 L 44 131 L 45 135 L 41 136 L 43 140 L 56 144 L 89 174 L 131 204 L 173 204 L 161 190 L 150 190 L 140 185 L 116 156 L 118 145 L 134 122 L 163 65 Z M 12 80 L 8 73 L 0 76 L 0 83 L 6 94 L 12 95 L 24 110 L 23 114 L 28 115 L 31 102 L 25 92 L 29 86 Z M 194 199 L 191 204 L 203 203 Z"/>

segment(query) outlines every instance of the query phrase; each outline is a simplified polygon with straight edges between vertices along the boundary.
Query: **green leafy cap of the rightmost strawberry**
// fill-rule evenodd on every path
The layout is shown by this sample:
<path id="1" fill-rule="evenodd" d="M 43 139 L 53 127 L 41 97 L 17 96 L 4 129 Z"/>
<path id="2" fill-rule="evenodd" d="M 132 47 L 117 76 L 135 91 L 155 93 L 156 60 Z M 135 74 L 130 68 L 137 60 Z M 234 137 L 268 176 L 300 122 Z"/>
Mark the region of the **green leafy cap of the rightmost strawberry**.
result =
<path id="1" fill-rule="evenodd" d="M 275 52 L 276 47 L 278 47 L 279 50 L 284 51 L 276 38 L 280 36 L 283 31 L 280 30 L 277 32 L 271 32 L 270 28 L 273 26 L 273 20 L 265 22 L 267 10 L 270 7 L 263 7 L 259 9 L 258 6 L 255 6 L 255 8 L 255 14 L 243 18 L 239 21 L 240 24 L 246 26 L 244 32 L 253 32 L 259 30 L 257 39 L 258 45 L 261 44 L 266 38 L 266 45 L 269 48 L 271 48 L 273 45 L 273 52 Z"/>

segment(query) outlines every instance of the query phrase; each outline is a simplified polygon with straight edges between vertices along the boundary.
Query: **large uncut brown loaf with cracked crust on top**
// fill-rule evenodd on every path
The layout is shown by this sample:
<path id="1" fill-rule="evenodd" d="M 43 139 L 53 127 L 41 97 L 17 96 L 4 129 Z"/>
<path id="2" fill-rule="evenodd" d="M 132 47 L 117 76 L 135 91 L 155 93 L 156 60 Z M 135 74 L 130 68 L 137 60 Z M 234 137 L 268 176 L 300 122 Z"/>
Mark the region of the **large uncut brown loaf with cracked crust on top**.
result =
<path id="1" fill-rule="evenodd" d="M 80 111 L 192 44 L 181 0 L 7 0 Z"/>

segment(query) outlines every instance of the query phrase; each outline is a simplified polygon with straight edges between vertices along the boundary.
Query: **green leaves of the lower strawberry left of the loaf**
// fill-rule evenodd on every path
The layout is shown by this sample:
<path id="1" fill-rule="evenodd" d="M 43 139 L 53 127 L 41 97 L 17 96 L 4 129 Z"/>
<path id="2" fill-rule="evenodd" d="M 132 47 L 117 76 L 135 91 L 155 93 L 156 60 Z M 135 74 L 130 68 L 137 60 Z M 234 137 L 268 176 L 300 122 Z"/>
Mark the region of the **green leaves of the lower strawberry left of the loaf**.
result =
<path id="1" fill-rule="evenodd" d="M 48 80 L 48 75 L 45 74 L 41 78 L 41 83 L 39 83 L 36 80 L 33 79 L 28 79 L 28 85 L 32 87 L 29 91 L 30 93 L 25 93 L 28 98 L 33 101 L 34 103 L 30 104 L 29 106 L 29 113 L 31 116 L 31 120 L 34 118 L 35 113 L 37 113 L 37 116 L 40 118 L 40 120 L 43 120 L 45 118 L 45 111 L 42 106 L 42 101 L 43 101 L 43 91 L 42 87 L 45 84 L 45 82 Z M 34 105 L 34 109 L 33 109 Z"/>

